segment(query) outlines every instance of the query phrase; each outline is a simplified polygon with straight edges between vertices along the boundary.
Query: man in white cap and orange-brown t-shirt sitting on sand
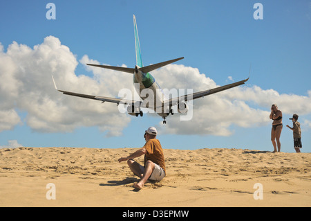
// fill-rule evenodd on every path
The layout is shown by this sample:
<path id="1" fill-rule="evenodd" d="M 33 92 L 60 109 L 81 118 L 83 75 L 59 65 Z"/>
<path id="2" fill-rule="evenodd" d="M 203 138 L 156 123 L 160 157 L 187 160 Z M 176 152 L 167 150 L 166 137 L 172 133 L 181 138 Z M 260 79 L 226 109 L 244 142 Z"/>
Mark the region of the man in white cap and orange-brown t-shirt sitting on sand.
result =
<path id="1" fill-rule="evenodd" d="M 135 188 L 141 189 L 148 179 L 160 181 L 165 177 L 165 163 L 164 154 L 160 141 L 156 139 L 158 132 L 155 127 L 149 127 L 144 132 L 144 139 L 146 143 L 142 148 L 129 155 L 129 157 L 121 157 L 118 159 L 119 163 L 127 161 L 129 168 L 134 175 L 140 177 L 140 182 L 135 183 Z M 144 154 L 144 166 L 137 163 L 133 159 Z"/>

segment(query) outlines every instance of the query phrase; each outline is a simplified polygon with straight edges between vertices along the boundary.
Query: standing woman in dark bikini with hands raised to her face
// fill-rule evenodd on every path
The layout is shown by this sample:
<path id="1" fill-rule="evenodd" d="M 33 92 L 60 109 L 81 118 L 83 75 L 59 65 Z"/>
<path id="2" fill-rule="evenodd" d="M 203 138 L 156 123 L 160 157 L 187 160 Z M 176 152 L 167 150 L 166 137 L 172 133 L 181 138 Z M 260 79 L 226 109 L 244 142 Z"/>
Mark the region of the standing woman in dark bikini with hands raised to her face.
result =
<path id="1" fill-rule="evenodd" d="M 277 151 L 281 151 L 280 136 L 283 128 L 282 117 L 282 112 L 278 109 L 278 106 L 272 105 L 270 119 L 273 121 L 271 130 L 271 141 L 274 147 L 273 152 L 276 152 L 276 144 L 278 146 Z"/>

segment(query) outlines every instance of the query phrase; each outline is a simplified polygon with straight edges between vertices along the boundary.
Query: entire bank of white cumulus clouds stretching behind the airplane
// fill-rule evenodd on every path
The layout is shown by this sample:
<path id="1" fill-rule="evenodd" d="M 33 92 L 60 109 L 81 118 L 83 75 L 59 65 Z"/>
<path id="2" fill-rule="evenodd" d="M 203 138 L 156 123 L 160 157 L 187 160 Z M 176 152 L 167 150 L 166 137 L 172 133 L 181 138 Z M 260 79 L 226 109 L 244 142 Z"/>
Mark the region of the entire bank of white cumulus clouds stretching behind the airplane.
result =
<path id="1" fill-rule="evenodd" d="M 93 73 L 92 77 L 75 74 L 79 62 Z M 135 117 L 118 112 L 115 104 L 65 96 L 55 90 L 51 75 L 59 89 L 81 94 L 116 97 L 120 89 L 133 91 L 131 74 L 89 67 L 86 63 L 100 64 L 88 55 L 78 61 L 70 48 L 53 36 L 33 48 L 13 42 L 5 52 L 0 44 L 0 132 L 25 122 L 36 132 L 72 132 L 77 127 L 98 127 L 107 136 L 122 134 Z M 181 64 L 169 64 L 152 74 L 163 89 L 196 92 L 219 86 L 198 69 Z M 227 80 L 234 81 L 230 76 Z M 194 100 L 191 121 L 180 121 L 175 114 L 169 116 L 167 125 L 162 125 L 162 119 L 157 117 L 161 132 L 229 136 L 234 133 L 234 125 L 260 127 L 270 123 L 272 103 L 283 114 L 310 114 L 310 97 L 311 91 L 308 96 L 299 96 L 243 85 Z M 21 119 L 18 111 L 26 112 L 26 118 Z M 305 125 L 310 125 L 308 122 Z"/>

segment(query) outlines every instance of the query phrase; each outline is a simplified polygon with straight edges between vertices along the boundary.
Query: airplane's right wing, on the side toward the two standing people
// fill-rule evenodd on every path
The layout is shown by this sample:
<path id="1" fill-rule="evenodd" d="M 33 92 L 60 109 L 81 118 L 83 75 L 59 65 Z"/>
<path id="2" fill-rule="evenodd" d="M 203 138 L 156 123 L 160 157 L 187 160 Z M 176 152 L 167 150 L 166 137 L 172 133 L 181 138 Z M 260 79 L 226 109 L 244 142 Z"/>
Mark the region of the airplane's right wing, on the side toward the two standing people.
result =
<path id="1" fill-rule="evenodd" d="M 215 94 L 215 93 L 218 93 L 220 91 L 225 91 L 227 89 L 230 89 L 232 87 L 237 87 L 239 85 L 244 85 L 245 82 L 247 82 L 249 78 L 245 79 L 245 80 L 241 80 L 239 82 L 235 82 L 235 83 L 232 83 L 232 84 L 229 84 L 229 85 L 224 85 L 224 86 L 221 86 L 221 87 L 216 87 L 216 88 L 213 88 L 213 89 L 208 89 L 208 90 L 205 90 L 205 91 L 199 91 L 199 92 L 196 92 L 194 94 L 187 94 L 187 95 L 184 95 L 184 96 L 179 96 L 177 98 L 171 98 L 169 100 L 164 100 L 164 103 L 163 103 L 163 106 L 164 107 L 168 107 L 168 106 L 174 106 L 174 105 L 178 105 L 178 103 L 182 100 L 194 100 L 194 99 L 197 99 L 197 98 L 204 98 L 205 96 L 208 96 L 208 95 L 211 95 L 211 94 Z"/>

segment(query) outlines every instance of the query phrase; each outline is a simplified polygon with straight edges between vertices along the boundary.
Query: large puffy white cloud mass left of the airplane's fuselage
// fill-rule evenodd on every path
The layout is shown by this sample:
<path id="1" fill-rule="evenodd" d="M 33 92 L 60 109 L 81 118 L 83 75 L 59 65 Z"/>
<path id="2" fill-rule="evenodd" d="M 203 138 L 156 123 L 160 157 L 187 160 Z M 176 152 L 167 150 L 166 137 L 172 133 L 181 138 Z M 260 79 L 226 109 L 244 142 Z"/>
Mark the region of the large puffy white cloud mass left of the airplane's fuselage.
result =
<path id="1" fill-rule="evenodd" d="M 115 105 L 64 96 L 54 89 L 51 75 L 59 89 L 117 95 L 118 82 L 109 71 L 95 72 L 93 78 L 76 76 L 77 64 L 68 46 L 53 36 L 33 48 L 13 42 L 5 53 L 1 46 L 0 132 L 21 123 L 15 112 L 20 109 L 27 112 L 27 125 L 37 132 L 72 132 L 77 127 L 96 126 L 107 136 L 122 134 L 130 117 L 117 112 Z"/>

